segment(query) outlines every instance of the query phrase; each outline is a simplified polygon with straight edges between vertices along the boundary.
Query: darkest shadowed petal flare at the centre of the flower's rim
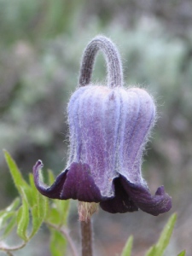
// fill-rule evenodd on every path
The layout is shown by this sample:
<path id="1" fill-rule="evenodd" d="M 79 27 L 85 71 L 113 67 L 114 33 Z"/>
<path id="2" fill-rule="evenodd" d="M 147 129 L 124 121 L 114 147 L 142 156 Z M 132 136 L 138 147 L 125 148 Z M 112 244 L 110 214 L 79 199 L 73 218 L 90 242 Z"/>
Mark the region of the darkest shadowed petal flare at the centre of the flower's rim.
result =
<path id="1" fill-rule="evenodd" d="M 114 180 L 115 197 L 102 201 L 100 207 L 102 210 L 110 213 L 125 213 L 138 211 L 138 207 L 131 200 L 131 197 L 127 195 L 125 189 L 120 183 L 119 178 Z"/>

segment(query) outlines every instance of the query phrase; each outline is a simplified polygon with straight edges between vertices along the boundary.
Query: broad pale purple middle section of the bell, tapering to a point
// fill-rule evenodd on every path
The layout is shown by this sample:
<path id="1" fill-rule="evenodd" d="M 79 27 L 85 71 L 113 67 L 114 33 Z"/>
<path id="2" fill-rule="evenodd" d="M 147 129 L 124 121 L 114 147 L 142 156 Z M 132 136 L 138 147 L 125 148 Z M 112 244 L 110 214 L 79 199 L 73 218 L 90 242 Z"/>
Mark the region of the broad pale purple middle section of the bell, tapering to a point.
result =
<path id="1" fill-rule="evenodd" d="M 113 178 L 119 176 L 115 172 L 120 117 L 119 91 L 102 86 L 86 88 L 78 100 L 78 130 L 81 138 L 79 160 L 90 166 L 91 175 L 102 195 L 113 196 Z M 74 125 L 73 113 L 69 112 L 68 115 L 71 125 Z"/>

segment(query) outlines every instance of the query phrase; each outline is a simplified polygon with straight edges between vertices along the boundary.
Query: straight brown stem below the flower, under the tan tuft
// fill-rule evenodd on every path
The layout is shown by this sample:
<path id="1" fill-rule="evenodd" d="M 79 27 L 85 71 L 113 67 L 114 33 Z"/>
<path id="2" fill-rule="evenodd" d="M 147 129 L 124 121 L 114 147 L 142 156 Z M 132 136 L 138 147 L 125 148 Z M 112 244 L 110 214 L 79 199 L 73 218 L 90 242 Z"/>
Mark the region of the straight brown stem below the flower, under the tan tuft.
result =
<path id="1" fill-rule="evenodd" d="M 82 256 L 92 256 L 92 230 L 90 219 L 81 221 L 81 250 Z"/>

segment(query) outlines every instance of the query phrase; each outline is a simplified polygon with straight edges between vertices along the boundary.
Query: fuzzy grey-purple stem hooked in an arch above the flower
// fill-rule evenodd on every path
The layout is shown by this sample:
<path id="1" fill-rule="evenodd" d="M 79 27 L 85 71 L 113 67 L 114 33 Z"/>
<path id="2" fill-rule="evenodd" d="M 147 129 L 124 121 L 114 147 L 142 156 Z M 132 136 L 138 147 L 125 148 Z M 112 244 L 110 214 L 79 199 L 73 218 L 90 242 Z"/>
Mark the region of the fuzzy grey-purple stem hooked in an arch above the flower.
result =
<path id="1" fill-rule="evenodd" d="M 122 66 L 119 52 L 108 38 L 98 36 L 90 41 L 84 50 L 80 69 L 79 86 L 90 84 L 97 51 L 101 49 L 108 63 L 108 86 L 113 88 L 123 85 Z"/>

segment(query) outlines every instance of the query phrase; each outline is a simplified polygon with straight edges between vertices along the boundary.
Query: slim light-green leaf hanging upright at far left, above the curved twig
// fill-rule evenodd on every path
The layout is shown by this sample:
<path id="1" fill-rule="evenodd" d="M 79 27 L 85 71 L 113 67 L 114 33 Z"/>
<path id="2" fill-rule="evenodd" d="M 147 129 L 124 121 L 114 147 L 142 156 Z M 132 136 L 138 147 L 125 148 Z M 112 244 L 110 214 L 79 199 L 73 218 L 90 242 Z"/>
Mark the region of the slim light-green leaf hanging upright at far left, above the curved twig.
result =
<path id="1" fill-rule="evenodd" d="M 22 191 L 22 189 L 20 189 Z M 17 235 L 24 241 L 28 240 L 27 227 L 29 224 L 29 207 L 26 201 L 26 195 L 22 193 L 22 205 L 17 214 Z"/>

